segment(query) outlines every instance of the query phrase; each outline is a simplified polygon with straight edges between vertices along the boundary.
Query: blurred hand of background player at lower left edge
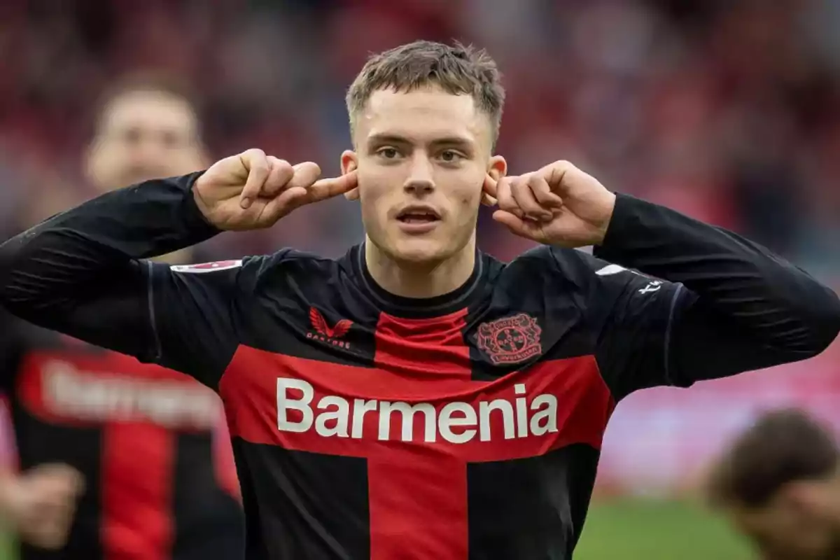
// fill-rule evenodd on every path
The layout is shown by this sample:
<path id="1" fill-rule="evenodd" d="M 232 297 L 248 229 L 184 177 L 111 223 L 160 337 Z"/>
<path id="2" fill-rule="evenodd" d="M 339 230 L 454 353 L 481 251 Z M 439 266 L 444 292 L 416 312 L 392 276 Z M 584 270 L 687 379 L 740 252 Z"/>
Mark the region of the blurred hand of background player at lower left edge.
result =
<path id="1" fill-rule="evenodd" d="M 44 464 L 0 481 L 0 510 L 29 544 L 57 550 L 67 542 L 84 479 L 66 464 Z"/>

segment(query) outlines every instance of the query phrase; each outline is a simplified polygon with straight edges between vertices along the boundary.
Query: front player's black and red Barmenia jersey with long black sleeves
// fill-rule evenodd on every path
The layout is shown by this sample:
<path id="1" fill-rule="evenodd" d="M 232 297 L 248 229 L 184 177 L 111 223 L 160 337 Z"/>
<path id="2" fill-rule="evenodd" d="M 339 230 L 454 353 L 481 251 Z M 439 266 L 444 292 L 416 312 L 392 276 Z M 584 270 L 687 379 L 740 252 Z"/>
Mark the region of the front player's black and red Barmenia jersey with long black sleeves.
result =
<path id="1" fill-rule="evenodd" d="M 144 261 L 218 233 L 196 177 L 4 244 L 0 303 L 218 390 L 249 558 L 570 558 L 618 400 L 806 359 L 840 329 L 805 272 L 623 195 L 595 256 L 477 253 L 428 300 L 377 286 L 363 247 Z"/>

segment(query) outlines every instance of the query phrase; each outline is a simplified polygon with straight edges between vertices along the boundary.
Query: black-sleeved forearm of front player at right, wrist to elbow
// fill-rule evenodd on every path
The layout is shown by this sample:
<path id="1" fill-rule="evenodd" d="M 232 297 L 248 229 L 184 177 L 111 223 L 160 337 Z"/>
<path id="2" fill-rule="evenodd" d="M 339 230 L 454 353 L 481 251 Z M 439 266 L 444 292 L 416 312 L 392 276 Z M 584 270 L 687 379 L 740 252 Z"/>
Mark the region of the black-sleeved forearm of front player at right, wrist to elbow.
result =
<path id="1" fill-rule="evenodd" d="M 812 355 L 840 330 L 837 295 L 810 275 L 734 233 L 631 196 L 618 196 L 596 255 L 684 284 L 704 322 L 727 322 L 753 348 Z"/>

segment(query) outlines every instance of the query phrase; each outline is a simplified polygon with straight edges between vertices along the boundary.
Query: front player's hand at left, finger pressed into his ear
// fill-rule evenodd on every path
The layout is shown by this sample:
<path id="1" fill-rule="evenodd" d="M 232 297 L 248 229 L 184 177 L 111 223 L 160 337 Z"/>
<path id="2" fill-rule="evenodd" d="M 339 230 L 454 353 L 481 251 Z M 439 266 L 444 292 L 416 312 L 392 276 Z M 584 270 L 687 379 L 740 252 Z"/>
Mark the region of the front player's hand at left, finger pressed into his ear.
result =
<path id="1" fill-rule="evenodd" d="M 193 196 L 207 222 L 219 229 L 270 228 L 297 207 L 356 186 L 355 172 L 319 179 L 312 162 L 290 165 L 261 149 L 218 160 L 196 181 Z"/>

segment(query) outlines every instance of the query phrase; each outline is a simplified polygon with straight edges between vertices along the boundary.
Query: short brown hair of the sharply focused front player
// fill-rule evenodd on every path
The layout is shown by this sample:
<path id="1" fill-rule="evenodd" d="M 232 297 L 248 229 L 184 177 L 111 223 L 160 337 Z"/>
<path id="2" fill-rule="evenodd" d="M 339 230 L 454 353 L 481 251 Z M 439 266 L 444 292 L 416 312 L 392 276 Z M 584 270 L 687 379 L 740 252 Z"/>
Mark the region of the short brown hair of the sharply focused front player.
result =
<path id="1" fill-rule="evenodd" d="M 470 95 L 476 107 L 486 113 L 493 127 L 493 142 L 498 137 L 505 90 L 501 75 L 486 50 L 472 45 L 453 45 L 415 41 L 386 50 L 368 59 L 347 92 L 347 111 L 351 133 L 355 117 L 364 110 L 373 92 L 392 89 L 412 92 L 438 86 L 453 95 Z"/>

